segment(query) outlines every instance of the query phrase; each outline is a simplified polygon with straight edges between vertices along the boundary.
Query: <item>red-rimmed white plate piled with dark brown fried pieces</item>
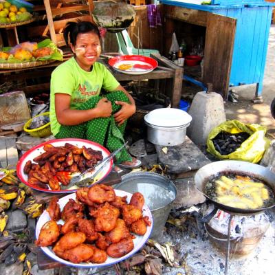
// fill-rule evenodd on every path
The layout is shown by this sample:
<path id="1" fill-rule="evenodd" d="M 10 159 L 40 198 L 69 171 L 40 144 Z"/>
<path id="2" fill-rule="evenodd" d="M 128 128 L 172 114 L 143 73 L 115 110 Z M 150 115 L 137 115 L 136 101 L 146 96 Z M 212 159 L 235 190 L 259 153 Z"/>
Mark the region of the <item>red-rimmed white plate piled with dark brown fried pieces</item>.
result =
<path id="1" fill-rule="evenodd" d="M 52 193 L 74 192 L 80 186 L 90 186 L 109 175 L 113 159 L 104 164 L 95 179 L 93 175 L 101 168 L 100 165 L 87 173 L 83 181 L 75 184 L 70 182 L 72 177 L 93 168 L 109 155 L 107 148 L 89 140 L 50 140 L 34 146 L 19 159 L 17 175 L 24 184 L 36 190 Z"/>

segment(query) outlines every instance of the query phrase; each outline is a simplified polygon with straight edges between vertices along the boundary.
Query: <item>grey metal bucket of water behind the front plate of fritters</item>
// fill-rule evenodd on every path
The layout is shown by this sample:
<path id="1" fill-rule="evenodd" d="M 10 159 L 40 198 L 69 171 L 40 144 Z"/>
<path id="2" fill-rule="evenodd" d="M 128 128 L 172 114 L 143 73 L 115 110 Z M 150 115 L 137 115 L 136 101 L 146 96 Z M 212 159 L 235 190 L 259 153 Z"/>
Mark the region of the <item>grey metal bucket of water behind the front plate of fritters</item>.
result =
<path id="1" fill-rule="evenodd" d="M 150 172 L 129 173 L 122 176 L 122 182 L 116 185 L 115 189 L 142 193 L 153 215 L 153 231 L 150 238 L 158 239 L 162 236 L 172 203 L 177 195 L 173 181 Z"/>

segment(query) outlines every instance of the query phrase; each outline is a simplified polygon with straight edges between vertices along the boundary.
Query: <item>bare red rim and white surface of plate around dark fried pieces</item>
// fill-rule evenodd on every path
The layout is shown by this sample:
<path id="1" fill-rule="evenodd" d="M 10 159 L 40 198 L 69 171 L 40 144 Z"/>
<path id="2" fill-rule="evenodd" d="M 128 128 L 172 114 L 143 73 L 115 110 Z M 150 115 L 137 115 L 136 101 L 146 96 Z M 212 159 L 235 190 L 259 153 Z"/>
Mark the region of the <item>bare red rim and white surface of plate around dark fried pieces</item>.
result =
<path id="1" fill-rule="evenodd" d="M 35 189 L 35 190 L 39 190 L 39 191 L 44 191 L 44 192 L 50 192 L 50 193 L 69 193 L 69 192 L 75 192 L 76 189 L 78 188 L 77 186 L 72 186 L 69 189 L 65 189 L 65 190 L 51 190 L 51 189 L 44 189 L 44 188 L 39 188 L 37 186 L 34 186 L 32 184 L 30 184 L 28 182 L 28 175 L 26 175 L 23 172 L 23 168 L 26 164 L 26 162 L 28 162 L 28 160 L 33 162 L 34 157 L 37 157 L 39 154 L 44 153 L 45 151 L 43 150 L 43 146 L 45 144 L 52 144 L 54 146 L 64 146 L 65 143 L 68 142 L 70 144 L 76 145 L 78 147 L 82 147 L 82 146 L 86 146 L 87 148 L 92 148 L 94 150 L 98 150 L 102 152 L 102 156 L 107 157 L 108 155 L 110 155 L 110 152 L 107 150 L 107 148 L 104 148 L 102 145 L 96 143 L 96 142 L 91 142 L 89 140 L 81 140 L 78 138 L 63 138 L 60 140 L 50 140 L 48 142 L 43 142 L 37 146 L 34 146 L 34 148 L 31 148 L 29 151 L 27 151 L 22 157 L 21 159 L 19 159 L 19 162 L 17 164 L 17 176 L 19 177 L 19 179 L 26 184 L 27 186 L 30 186 L 31 188 Z M 109 173 L 111 172 L 111 169 L 113 167 L 113 159 L 111 159 L 111 161 L 109 162 L 109 164 L 106 164 L 104 166 L 104 168 L 102 169 L 102 171 L 97 175 L 96 179 L 94 182 L 100 182 L 102 181 L 102 179 L 104 179 L 105 177 L 107 177 L 107 175 L 109 175 Z M 97 167 L 96 170 L 98 170 Z M 96 173 L 96 170 L 93 173 L 89 173 L 89 175 L 87 174 L 87 177 L 93 175 L 94 173 Z M 73 175 L 78 175 L 77 173 L 73 174 Z M 50 187 L 49 187 L 50 188 Z"/>

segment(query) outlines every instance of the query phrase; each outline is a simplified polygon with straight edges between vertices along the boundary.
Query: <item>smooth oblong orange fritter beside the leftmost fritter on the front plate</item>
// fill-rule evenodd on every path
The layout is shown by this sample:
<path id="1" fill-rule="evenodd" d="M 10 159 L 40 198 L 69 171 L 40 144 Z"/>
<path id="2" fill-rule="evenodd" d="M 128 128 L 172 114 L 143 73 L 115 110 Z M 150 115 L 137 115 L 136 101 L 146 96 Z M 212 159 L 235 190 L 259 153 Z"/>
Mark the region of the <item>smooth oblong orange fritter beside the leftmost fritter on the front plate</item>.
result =
<path id="1" fill-rule="evenodd" d="M 85 240 L 86 236 L 83 232 L 68 232 L 64 236 L 61 236 L 61 239 L 58 240 L 52 250 L 54 252 L 64 252 L 65 250 L 75 248 L 80 243 L 84 243 Z"/>

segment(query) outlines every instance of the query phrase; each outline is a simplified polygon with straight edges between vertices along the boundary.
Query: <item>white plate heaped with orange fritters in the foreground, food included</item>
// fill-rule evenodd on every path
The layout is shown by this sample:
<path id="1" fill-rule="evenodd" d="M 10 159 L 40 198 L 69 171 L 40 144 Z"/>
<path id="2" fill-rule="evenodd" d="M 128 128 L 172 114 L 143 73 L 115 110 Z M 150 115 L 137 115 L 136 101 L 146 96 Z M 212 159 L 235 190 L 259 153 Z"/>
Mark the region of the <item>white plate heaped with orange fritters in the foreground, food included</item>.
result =
<path id="1" fill-rule="evenodd" d="M 135 254 L 152 229 L 152 214 L 140 192 L 96 184 L 54 197 L 36 224 L 35 243 L 65 265 L 103 267 Z"/>

